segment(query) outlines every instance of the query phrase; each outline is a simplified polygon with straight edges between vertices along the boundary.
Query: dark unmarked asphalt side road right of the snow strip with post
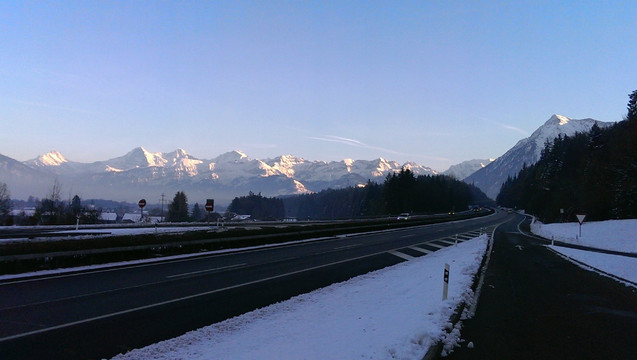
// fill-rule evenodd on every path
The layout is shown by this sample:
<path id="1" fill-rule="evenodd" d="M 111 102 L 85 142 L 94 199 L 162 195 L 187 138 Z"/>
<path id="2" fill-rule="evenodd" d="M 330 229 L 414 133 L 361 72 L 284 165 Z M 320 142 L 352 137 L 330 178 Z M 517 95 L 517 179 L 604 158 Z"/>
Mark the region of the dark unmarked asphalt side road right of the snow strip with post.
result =
<path id="1" fill-rule="evenodd" d="M 637 359 L 637 291 L 499 226 L 458 359 Z M 471 343 L 471 346 L 468 346 Z"/>

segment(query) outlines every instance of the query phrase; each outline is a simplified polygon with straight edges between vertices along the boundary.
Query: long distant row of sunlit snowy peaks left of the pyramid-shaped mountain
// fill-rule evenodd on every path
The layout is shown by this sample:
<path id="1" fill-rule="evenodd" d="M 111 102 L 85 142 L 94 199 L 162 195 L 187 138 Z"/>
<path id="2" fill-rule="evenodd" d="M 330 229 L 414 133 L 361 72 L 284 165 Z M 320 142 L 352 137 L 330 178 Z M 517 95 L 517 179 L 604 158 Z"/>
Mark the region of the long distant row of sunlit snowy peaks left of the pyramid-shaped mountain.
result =
<path id="1" fill-rule="evenodd" d="M 154 202 L 152 199 L 158 199 L 162 193 L 171 195 L 181 190 L 193 203 L 215 198 L 218 204 L 223 204 L 249 191 L 277 196 L 356 186 L 368 180 L 382 182 L 387 174 L 403 167 L 416 175 L 436 173 L 416 163 L 401 165 L 382 158 L 326 162 L 283 155 L 259 160 L 240 151 L 231 151 L 206 160 L 183 149 L 161 153 L 149 152 L 142 147 L 120 157 L 93 163 L 73 162 L 57 151 L 23 163 L 9 158 L 6 159 L 12 162 L 3 162 L 2 159 L 0 169 L 2 164 L 9 163 L 20 168 L 12 172 L 17 174 L 15 176 L 9 176 L 8 171 L 0 172 L 0 181 L 9 185 L 16 198 L 46 196 L 47 189 L 57 178 L 63 192 L 83 198 L 126 201 L 147 198 Z"/>

